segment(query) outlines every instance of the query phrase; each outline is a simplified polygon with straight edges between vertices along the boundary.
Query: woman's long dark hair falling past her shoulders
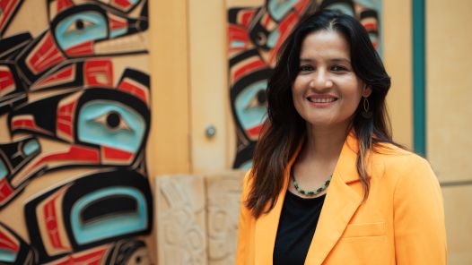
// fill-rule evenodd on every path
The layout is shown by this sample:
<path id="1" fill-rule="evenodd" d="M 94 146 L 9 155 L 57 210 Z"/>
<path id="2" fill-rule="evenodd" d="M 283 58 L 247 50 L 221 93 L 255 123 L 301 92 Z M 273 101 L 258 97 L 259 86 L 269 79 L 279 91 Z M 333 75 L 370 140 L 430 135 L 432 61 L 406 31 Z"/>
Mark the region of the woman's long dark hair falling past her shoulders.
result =
<path id="1" fill-rule="evenodd" d="M 370 187 L 365 165 L 367 152 L 375 150 L 380 142 L 393 143 L 385 106 L 390 78 L 367 31 L 359 21 L 343 13 L 323 10 L 311 14 L 300 21 L 285 40 L 268 81 L 268 120 L 254 153 L 250 178 L 252 188 L 245 201 L 256 218 L 265 209 L 268 211 L 274 208 L 284 185 L 287 164 L 300 142 L 307 137 L 306 122 L 293 106 L 292 85 L 299 72 L 302 41 L 308 34 L 318 30 L 332 30 L 344 36 L 349 43 L 354 73 L 371 88 L 371 117 L 362 115 L 363 107 L 359 104 L 351 124 L 359 142 L 356 167 L 363 184 L 364 200 Z"/>

